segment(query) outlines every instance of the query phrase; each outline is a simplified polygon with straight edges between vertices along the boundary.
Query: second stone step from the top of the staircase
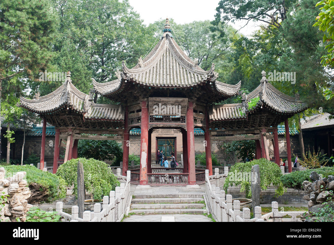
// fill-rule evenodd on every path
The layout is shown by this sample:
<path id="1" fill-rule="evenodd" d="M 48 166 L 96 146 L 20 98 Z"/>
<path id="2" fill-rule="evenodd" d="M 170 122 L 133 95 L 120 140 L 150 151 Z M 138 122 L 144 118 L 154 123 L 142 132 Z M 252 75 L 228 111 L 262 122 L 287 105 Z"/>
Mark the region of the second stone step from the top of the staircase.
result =
<path id="1" fill-rule="evenodd" d="M 132 199 L 132 204 L 164 204 L 164 203 L 194 203 L 204 201 L 203 195 L 201 197 L 172 197 L 172 198 L 137 198 Z"/>

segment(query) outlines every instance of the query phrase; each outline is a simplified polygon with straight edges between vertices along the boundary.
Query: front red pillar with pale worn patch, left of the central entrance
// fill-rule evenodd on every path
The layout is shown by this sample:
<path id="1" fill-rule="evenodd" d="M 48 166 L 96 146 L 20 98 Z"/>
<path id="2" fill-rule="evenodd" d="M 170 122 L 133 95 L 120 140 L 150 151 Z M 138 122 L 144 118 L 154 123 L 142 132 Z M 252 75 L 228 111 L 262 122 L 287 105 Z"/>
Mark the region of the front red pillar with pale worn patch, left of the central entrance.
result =
<path id="1" fill-rule="evenodd" d="M 140 174 L 139 184 L 147 185 L 147 154 L 148 154 L 148 108 L 147 102 L 142 101 L 141 135 L 140 135 Z"/>

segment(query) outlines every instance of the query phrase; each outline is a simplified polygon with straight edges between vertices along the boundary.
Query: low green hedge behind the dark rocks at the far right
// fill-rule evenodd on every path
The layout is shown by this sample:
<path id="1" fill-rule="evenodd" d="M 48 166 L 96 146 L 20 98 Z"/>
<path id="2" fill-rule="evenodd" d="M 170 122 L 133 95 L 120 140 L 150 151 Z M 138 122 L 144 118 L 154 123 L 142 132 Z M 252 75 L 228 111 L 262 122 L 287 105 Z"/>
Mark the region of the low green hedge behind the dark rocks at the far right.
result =
<path id="1" fill-rule="evenodd" d="M 311 181 L 310 174 L 312 171 L 315 171 L 318 174 L 322 174 L 323 178 L 325 177 L 327 178 L 328 175 L 334 175 L 334 167 L 306 169 L 304 171 L 295 171 L 290 174 L 283 175 L 281 177 L 282 183 L 287 188 L 302 190 L 303 189 L 302 183 L 305 180 Z"/>

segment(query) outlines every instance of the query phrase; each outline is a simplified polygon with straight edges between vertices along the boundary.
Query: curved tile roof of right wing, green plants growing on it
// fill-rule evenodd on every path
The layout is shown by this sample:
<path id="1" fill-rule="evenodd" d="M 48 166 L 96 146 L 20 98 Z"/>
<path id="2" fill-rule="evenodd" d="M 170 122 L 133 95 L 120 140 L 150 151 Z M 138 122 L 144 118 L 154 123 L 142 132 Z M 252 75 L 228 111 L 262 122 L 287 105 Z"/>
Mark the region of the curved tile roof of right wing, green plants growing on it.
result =
<path id="1" fill-rule="evenodd" d="M 254 106 L 249 105 L 254 101 Z M 260 85 L 251 93 L 243 94 L 241 103 L 213 105 L 209 118 L 211 124 L 218 128 L 270 127 L 307 108 L 298 94 L 291 97 L 280 92 L 269 83 L 266 72 L 262 71 Z"/>

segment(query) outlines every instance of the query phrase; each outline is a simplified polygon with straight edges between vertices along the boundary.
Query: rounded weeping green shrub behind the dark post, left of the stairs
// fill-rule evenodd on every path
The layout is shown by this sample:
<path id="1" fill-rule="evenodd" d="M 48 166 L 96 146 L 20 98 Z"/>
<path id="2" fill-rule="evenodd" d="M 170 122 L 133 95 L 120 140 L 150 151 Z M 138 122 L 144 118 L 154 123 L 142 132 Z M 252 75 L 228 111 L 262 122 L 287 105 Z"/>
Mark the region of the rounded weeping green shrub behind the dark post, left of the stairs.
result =
<path id="1" fill-rule="evenodd" d="M 74 185 L 73 194 L 77 194 L 77 164 L 82 162 L 85 189 L 91 194 L 92 199 L 101 200 L 103 196 L 109 196 L 111 190 L 119 185 L 119 181 L 111 172 L 108 164 L 93 158 L 77 158 L 71 159 L 61 164 L 56 175 L 63 178 L 67 186 Z"/>

